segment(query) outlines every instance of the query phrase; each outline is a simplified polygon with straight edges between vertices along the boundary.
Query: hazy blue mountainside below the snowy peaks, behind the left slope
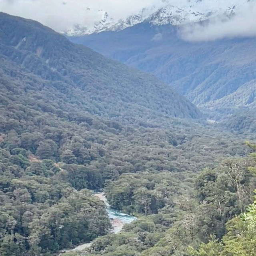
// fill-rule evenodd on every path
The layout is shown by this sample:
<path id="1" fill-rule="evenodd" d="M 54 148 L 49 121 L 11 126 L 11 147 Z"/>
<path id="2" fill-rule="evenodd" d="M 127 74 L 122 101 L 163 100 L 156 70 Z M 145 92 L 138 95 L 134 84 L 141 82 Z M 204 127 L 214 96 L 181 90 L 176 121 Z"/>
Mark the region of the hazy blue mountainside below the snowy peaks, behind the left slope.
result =
<path id="1" fill-rule="evenodd" d="M 171 25 L 142 23 L 70 39 L 158 76 L 204 111 L 255 106 L 256 38 L 191 43 L 177 34 Z"/>

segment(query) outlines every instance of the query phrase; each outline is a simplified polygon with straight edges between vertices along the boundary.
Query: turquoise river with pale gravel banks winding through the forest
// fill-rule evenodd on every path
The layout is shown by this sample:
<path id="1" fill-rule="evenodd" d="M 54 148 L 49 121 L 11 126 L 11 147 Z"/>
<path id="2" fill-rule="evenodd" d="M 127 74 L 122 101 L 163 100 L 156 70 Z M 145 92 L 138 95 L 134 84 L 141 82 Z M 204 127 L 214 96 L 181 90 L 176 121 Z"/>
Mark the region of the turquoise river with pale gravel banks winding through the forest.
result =
<path id="1" fill-rule="evenodd" d="M 106 199 L 106 196 L 102 192 L 94 192 L 93 196 L 97 196 L 100 200 L 102 200 L 106 204 L 108 216 L 112 223 L 112 232 L 117 234 L 121 231 L 122 227 L 126 223 L 131 223 L 133 220 L 136 220 L 136 217 L 125 214 L 119 210 L 116 210 L 112 208 L 108 204 L 108 200 Z M 80 246 L 77 246 L 76 248 L 72 249 L 72 251 L 82 251 L 86 248 L 89 248 L 92 243 L 82 244 Z"/>

